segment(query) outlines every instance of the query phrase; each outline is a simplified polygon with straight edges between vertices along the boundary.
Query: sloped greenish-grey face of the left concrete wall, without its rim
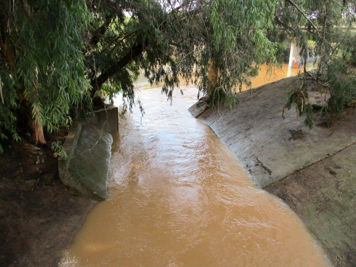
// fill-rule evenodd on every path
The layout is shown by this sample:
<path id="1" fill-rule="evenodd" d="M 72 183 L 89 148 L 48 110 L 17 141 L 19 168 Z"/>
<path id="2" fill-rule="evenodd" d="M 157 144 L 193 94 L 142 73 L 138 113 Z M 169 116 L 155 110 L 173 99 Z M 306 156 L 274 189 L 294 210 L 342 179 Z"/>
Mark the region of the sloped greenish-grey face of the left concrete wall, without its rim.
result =
<path id="1" fill-rule="evenodd" d="M 92 197 L 106 199 L 112 136 L 104 129 L 84 125 L 68 172 L 73 188 Z"/>

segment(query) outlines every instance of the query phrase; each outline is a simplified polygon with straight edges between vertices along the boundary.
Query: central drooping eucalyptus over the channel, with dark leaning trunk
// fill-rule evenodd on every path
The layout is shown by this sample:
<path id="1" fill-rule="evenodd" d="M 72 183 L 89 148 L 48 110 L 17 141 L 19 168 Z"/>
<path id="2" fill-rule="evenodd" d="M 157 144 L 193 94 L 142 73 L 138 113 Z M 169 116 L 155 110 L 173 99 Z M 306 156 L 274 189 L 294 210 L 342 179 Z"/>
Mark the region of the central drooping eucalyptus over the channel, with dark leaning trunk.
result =
<path id="1" fill-rule="evenodd" d="M 229 96 L 236 85 L 250 85 L 260 64 L 277 63 L 276 43 L 267 37 L 274 5 L 273 0 L 90 1 L 94 20 L 85 59 L 91 96 L 122 91 L 125 112 L 135 103 L 133 81 L 142 71 L 151 83 L 164 83 L 168 99 L 181 77 L 197 85 L 199 95 L 234 101 Z"/>

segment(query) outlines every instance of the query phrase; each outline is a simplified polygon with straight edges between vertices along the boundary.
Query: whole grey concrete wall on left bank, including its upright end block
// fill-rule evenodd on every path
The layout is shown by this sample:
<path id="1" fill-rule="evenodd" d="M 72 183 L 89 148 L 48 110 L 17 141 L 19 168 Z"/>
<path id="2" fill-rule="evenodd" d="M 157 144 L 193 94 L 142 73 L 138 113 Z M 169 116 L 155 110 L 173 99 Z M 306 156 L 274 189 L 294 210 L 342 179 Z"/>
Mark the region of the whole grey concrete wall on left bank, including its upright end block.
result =
<path id="1" fill-rule="evenodd" d="M 119 130 L 118 109 L 94 111 L 88 121 L 74 120 L 63 144 L 67 158 L 58 160 L 62 183 L 75 194 L 106 199 L 111 158 L 111 133 Z"/>

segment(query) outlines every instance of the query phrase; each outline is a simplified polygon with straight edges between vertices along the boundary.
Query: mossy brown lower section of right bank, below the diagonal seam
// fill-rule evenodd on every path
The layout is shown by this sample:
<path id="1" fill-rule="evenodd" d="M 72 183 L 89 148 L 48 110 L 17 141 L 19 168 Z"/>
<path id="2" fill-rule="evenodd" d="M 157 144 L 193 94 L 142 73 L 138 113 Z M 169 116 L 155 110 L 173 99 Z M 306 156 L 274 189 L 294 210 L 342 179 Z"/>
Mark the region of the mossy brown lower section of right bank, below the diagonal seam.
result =
<path id="1" fill-rule="evenodd" d="M 263 188 L 285 201 L 335 266 L 356 266 L 356 145 Z"/>

